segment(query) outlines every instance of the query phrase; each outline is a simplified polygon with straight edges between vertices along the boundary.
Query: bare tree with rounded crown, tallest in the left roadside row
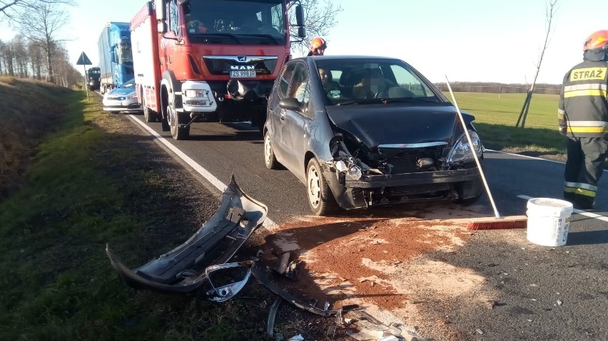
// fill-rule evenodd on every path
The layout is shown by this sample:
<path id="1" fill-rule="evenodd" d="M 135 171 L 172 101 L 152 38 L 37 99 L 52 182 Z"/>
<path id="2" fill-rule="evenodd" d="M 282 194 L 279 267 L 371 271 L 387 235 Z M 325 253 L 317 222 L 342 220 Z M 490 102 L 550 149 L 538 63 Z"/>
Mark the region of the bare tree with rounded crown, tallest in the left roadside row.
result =
<path id="1" fill-rule="evenodd" d="M 53 53 L 59 40 L 55 33 L 68 21 L 68 15 L 62 9 L 51 4 L 41 4 L 24 12 L 19 19 L 19 31 L 34 46 L 42 48 L 46 54 L 46 71 L 49 81 L 55 83 Z"/>

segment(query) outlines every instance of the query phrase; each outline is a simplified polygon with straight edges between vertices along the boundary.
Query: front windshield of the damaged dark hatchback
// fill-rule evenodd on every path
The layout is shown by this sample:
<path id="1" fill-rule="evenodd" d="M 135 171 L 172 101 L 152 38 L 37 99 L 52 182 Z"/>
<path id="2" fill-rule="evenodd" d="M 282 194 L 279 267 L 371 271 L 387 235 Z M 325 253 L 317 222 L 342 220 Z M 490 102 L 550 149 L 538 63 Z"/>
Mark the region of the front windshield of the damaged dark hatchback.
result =
<path id="1" fill-rule="evenodd" d="M 344 58 L 315 61 L 331 105 L 442 103 L 442 93 L 397 59 Z"/>

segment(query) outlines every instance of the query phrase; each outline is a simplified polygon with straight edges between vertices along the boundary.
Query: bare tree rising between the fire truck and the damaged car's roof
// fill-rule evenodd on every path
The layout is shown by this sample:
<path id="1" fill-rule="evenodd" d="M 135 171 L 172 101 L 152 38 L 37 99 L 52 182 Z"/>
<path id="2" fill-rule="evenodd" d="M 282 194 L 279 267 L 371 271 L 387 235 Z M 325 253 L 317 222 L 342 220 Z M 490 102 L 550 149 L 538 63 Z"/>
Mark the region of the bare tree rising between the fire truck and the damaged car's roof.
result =
<path id="1" fill-rule="evenodd" d="M 330 0 L 302 0 L 301 4 L 304 9 L 304 27 L 308 37 L 326 36 L 330 28 L 338 23 L 338 14 L 344 11 L 342 6 L 332 3 Z M 289 16 L 290 22 L 295 23 L 293 6 L 290 8 Z M 295 30 L 290 31 L 290 36 L 291 41 L 294 42 L 291 44 L 294 51 L 300 53 L 308 51 L 310 39 L 298 38 L 298 31 Z"/>

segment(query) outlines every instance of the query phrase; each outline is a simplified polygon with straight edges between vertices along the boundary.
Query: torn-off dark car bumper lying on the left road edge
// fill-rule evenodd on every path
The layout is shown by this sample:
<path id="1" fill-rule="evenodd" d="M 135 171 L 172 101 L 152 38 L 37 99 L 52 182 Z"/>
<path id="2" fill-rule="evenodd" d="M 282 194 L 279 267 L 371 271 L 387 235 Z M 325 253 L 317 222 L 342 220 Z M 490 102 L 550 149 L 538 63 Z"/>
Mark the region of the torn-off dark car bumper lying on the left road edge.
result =
<path id="1" fill-rule="evenodd" d="M 207 285 L 211 300 L 223 302 L 236 295 L 250 276 L 250 262 L 228 263 L 245 240 L 263 224 L 268 208 L 243 193 L 234 176 L 223 193 L 221 206 L 196 234 L 181 246 L 130 269 L 106 246 L 111 265 L 132 288 L 161 293 L 190 293 Z M 228 285 L 211 283 L 211 272 L 245 269 L 245 275 Z"/>

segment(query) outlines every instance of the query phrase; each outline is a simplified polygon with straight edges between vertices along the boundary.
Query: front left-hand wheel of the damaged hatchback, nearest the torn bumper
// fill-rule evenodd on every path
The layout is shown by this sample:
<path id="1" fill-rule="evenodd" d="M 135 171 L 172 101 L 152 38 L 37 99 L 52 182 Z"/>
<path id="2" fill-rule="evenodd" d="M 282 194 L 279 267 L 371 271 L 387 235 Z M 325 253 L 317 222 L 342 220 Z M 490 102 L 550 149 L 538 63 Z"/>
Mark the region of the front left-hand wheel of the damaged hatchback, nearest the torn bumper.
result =
<path id="1" fill-rule="evenodd" d="M 306 167 L 306 194 L 308 206 L 315 216 L 325 216 L 338 207 L 320 164 L 314 157 Z"/>

